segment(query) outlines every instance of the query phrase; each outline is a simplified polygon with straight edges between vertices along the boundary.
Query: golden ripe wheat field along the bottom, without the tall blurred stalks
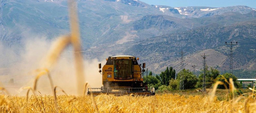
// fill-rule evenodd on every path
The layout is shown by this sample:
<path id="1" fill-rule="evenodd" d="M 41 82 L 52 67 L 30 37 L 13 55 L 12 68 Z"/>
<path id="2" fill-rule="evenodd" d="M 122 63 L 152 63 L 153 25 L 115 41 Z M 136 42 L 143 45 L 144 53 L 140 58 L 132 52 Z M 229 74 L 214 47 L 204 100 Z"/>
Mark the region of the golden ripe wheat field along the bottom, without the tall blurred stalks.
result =
<path id="1" fill-rule="evenodd" d="M 254 95 L 254 94 L 253 94 Z M 228 95 L 227 95 L 228 96 Z M 161 94 L 155 96 L 0 96 L 0 112 L 256 112 L 255 96 L 229 101 L 203 95 Z"/>

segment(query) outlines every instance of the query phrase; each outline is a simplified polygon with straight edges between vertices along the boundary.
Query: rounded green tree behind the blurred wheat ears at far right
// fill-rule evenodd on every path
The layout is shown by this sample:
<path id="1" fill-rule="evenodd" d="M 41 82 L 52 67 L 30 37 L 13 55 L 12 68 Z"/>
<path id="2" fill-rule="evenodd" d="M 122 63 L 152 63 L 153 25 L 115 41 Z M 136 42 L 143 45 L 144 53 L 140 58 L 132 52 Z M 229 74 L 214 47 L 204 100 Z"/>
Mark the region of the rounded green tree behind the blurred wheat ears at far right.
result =
<path id="1" fill-rule="evenodd" d="M 232 78 L 235 87 L 240 88 L 240 87 L 239 87 L 239 86 L 240 86 L 239 83 L 236 82 L 236 81 L 237 81 L 237 77 L 236 77 L 236 76 L 232 75 L 231 73 L 225 73 L 225 74 L 219 75 L 219 76 L 217 77 L 217 80 L 218 80 L 218 81 L 221 81 L 221 82 L 225 83 L 226 86 L 229 88 L 229 84 L 225 81 L 225 79 L 224 79 L 223 77 L 224 77 L 228 82 L 229 82 L 229 79 Z M 218 85 L 218 88 L 219 88 L 219 89 L 225 89 L 225 86 L 224 86 L 224 85 Z"/>

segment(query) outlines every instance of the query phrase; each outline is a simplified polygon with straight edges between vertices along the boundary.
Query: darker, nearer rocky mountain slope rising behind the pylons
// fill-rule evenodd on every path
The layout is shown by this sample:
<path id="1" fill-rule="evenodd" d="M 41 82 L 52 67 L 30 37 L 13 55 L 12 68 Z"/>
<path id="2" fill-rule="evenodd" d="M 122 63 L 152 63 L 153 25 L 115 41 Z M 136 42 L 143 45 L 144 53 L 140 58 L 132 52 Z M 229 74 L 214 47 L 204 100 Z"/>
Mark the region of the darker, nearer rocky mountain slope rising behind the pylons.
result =
<path id="1" fill-rule="evenodd" d="M 255 27 L 255 20 L 235 23 L 230 26 L 209 24 L 208 26 L 184 32 L 151 37 L 124 44 L 107 44 L 109 45 L 108 47 L 98 45 L 90 48 L 86 54 L 94 54 L 97 56 L 106 52 L 113 55 L 116 55 L 116 53 L 135 55 L 142 57 L 141 61 L 146 62 L 150 70 L 160 72 L 165 69 L 165 66 L 174 66 L 172 62 L 179 62 L 181 51 L 187 52 L 186 55 L 193 55 L 204 49 L 208 51 L 208 49 L 212 48 L 214 51 L 210 53 L 206 52 L 206 54 L 215 55 L 209 57 L 210 59 L 214 58 L 214 60 L 209 60 L 211 62 L 209 62 L 208 65 L 220 67 L 220 70 L 226 70 L 228 69 L 229 59 L 225 62 L 223 62 L 223 59 L 228 57 L 229 46 L 226 46 L 225 42 L 237 41 L 239 45 L 234 47 L 234 64 L 236 64 L 234 65 L 234 69 L 239 69 L 255 60 L 253 51 L 253 48 L 256 48 Z M 216 57 L 217 53 L 221 54 Z M 202 53 L 200 52 L 200 54 Z M 196 56 L 200 57 L 199 54 Z M 187 60 L 185 60 L 185 63 L 186 61 Z M 201 64 L 201 60 L 198 60 L 198 58 L 195 61 L 197 61 L 195 65 Z M 191 61 L 189 62 L 191 65 L 193 64 Z M 221 65 L 222 62 L 223 64 Z M 178 66 L 175 68 L 179 69 Z M 187 65 L 186 68 L 191 69 L 189 65 Z M 198 67 L 198 69 L 200 68 L 201 66 Z"/>

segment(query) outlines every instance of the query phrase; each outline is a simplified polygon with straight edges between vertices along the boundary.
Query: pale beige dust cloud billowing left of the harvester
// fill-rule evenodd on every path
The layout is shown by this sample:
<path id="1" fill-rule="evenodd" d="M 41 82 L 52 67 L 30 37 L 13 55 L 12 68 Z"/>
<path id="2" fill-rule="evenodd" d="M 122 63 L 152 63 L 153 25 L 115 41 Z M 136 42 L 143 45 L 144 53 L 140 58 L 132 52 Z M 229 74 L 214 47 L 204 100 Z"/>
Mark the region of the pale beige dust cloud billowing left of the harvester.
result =
<path id="1" fill-rule="evenodd" d="M 12 95 L 25 95 L 27 86 L 33 87 L 37 69 L 42 68 L 46 55 L 56 43 L 55 40 L 46 38 L 34 38 L 23 41 L 23 48 L 6 47 L 0 43 L 0 86 L 5 87 Z M 50 75 L 54 86 L 62 88 L 67 94 L 77 94 L 76 70 L 74 66 L 74 54 L 71 46 L 59 56 L 54 67 L 50 69 Z M 105 53 L 106 55 L 106 53 Z M 83 58 L 85 81 L 90 87 L 101 87 L 102 76 L 98 72 L 98 64 L 105 64 L 104 59 Z M 85 60 L 86 59 L 86 60 Z M 41 76 L 37 83 L 37 91 L 42 94 L 51 95 L 51 86 L 47 75 Z M 57 94 L 63 94 L 57 89 Z"/>

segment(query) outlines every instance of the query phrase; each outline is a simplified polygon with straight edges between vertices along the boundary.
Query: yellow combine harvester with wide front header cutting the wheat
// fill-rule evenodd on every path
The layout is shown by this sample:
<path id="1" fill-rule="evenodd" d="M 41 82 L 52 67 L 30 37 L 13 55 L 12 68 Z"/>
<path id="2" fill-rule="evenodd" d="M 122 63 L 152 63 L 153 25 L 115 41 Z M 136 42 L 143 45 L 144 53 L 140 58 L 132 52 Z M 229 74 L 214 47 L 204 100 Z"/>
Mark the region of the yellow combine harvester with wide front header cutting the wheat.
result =
<path id="1" fill-rule="evenodd" d="M 102 74 L 101 88 L 88 88 L 88 94 L 114 95 L 155 95 L 155 88 L 143 83 L 145 63 L 138 64 L 134 56 L 113 56 L 106 58 L 106 64 L 99 72 Z"/>

